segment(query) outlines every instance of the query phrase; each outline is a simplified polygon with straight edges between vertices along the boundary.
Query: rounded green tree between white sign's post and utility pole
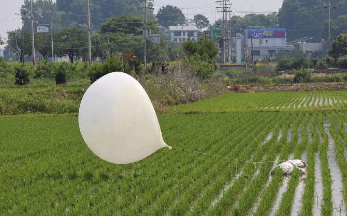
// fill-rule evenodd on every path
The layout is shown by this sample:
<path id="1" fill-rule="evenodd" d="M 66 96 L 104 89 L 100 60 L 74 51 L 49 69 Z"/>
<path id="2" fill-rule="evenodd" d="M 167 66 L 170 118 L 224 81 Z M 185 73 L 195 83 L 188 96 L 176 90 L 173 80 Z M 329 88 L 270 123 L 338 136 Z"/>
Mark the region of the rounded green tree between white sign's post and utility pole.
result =
<path id="1" fill-rule="evenodd" d="M 64 28 L 57 33 L 55 40 L 55 55 L 58 57 L 68 56 L 71 63 L 74 58 L 85 58 L 88 50 L 88 34 L 85 29 Z"/>

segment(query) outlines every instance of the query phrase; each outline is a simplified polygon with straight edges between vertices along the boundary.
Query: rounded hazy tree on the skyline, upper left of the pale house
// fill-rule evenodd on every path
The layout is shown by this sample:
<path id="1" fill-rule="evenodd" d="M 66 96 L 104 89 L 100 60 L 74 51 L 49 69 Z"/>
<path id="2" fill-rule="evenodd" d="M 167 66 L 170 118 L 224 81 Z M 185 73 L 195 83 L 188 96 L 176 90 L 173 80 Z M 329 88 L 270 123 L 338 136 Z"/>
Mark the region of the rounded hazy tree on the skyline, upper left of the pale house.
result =
<path id="1" fill-rule="evenodd" d="M 181 9 L 172 5 L 163 6 L 156 14 L 158 24 L 161 26 L 177 26 L 186 23 L 186 17 Z"/>

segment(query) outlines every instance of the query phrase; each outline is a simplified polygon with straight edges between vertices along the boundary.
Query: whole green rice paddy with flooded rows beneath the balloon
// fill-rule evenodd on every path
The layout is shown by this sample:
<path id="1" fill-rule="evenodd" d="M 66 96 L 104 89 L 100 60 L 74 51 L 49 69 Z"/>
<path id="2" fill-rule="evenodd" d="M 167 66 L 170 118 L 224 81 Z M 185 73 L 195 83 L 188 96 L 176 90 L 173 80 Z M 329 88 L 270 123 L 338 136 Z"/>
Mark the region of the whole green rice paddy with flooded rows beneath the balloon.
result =
<path id="1" fill-rule="evenodd" d="M 346 215 L 347 92 L 228 94 L 158 113 L 174 148 L 115 165 L 78 116 L 0 117 L 0 215 Z M 287 159 L 307 174 L 283 176 Z"/>

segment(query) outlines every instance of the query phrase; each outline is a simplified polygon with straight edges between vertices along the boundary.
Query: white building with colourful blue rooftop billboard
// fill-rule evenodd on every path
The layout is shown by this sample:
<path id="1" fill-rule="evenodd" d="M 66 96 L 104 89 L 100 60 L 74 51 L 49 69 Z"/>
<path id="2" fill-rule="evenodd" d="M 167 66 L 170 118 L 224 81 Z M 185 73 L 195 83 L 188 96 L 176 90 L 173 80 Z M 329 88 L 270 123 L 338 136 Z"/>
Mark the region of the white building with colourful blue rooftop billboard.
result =
<path id="1" fill-rule="evenodd" d="M 294 46 L 287 45 L 286 29 L 247 29 L 246 45 L 248 55 L 252 56 L 252 40 L 254 60 L 273 58 L 279 50 L 289 52 Z"/>

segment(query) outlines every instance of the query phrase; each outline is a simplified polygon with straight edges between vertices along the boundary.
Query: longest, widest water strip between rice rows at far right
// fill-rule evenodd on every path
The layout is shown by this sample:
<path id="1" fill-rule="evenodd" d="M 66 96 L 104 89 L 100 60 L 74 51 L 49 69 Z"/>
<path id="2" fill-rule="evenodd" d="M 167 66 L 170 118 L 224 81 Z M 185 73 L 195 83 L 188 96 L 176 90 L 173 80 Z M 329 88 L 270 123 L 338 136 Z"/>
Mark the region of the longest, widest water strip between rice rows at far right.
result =
<path id="1" fill-rule="evenodd" d="M 331 172 L 331 189 L 333 201 L 333 215 L 346 215 L 346 206 L 342 194 L 342 175 L 336 161 L 335 142 L 329 131 L 330 124 L 324 124 L 324 132 L 328 135 L 328 164 Z"/>

